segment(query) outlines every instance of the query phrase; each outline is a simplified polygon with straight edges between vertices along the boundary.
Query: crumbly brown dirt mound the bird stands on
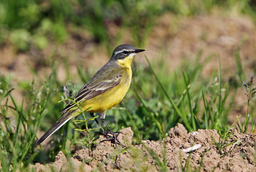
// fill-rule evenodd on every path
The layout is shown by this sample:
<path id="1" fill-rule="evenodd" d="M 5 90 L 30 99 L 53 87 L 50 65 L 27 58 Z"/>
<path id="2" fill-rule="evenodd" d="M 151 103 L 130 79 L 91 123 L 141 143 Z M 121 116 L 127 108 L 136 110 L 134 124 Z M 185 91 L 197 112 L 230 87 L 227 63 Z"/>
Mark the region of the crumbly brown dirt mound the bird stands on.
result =
<path id="1" fill-rule="evenodd" d="M 212 144 L 213 139 L 219 141 L 219 134 L 216 130 L 201 130 L 188 133 L 182 124 L 171 128 L 166 140 L 166 165 L 169 171 L 183 171 L 187 168 L 199 171 L 256 171 L 255 167 L 255 134 L 240 134 L 235 129 L 231 138 L 225 145 L 232 141 L 235 143 L 223 148 L 218 154 L 218 149 Z M 230 131 L 230 132 L 231 132 Z M 52 164 L 42 165 L 36 163 L 30 165 L 30 170 L 35 171 L 161 171 L 159 162 L 164 162 L 163 146 L 160 141 L 143 140 L 143 144 L 132 145 L 133 132 L 131 127 L 121 130 L 118 139 L 128 148 L 118 146 L 105 141 L 97 145 L 92 156 L 89 156 L 88 149 L 76 151 L 71 158 L 60 151 Z M 212 136 L 211 136 L 212 134 Z M 100 136 L 100 140 L 104 137 Z M 99 141 L 100 141 L 99 140 Z M 163 143 L 163 142 L 162 142 Z M 193 145 L 201 144 L 202 147 L 185 153 L 182 149 Z M 148 152 L 149 150 L 149 152 Z M 230 150 L 232 152 L 228 153 Z M 154 152 L 154 153 L 152 153 Z M 226 154 L 227 153 L 227 154 Z M 226 155 L 225 155 L 226 154 Z M 158 158 L 152 157 L 157 155 Z M 220 158 L 220 156 L 224 155 Z M 200 164 L 202 164 L 200 166 Z M 164 167 L 164 165 L 162 166 Z"/>

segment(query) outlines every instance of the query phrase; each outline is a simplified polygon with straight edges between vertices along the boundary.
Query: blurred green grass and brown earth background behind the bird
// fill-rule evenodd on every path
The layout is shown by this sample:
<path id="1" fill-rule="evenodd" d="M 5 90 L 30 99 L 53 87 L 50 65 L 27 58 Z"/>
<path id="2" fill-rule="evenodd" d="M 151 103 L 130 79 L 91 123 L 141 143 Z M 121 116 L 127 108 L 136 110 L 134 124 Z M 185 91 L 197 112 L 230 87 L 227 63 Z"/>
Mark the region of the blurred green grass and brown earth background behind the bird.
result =
<path id="1" fill-rule="evenodd" d="M 255 101 L 248 108 L 243 81 L 256 71 L 255 8 L 254 0 L 1 0 L 2 169 L 85 148 L 73 130 L 84 125 L 73 122 L 42 146 L 35 141 L 61 116 L 58 101 L 72 98 L 120 44 L 146 51 L 135 57 L 124 100 L 107 112 L 113 131 L 131 126 L 139 143 L 166 137 L 177 123 L 225 132 L 239 115 L 238 131 L 253 131 Z"/>

